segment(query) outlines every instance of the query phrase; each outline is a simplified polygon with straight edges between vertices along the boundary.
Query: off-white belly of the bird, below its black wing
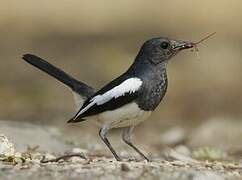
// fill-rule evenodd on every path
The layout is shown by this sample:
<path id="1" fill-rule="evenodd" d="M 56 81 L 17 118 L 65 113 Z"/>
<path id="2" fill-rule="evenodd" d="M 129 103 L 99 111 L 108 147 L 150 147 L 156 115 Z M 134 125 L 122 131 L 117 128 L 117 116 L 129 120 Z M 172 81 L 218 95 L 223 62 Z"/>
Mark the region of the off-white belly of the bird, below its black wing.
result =
<path id="1" fill-rule="evenodd" d="M 100 125 L 109 128 L 135 126 L 149 117 L 151 111 L 141 110 L 136 103 L 130 103 L 113 111 L 105 111 L 96 118 Z"/>

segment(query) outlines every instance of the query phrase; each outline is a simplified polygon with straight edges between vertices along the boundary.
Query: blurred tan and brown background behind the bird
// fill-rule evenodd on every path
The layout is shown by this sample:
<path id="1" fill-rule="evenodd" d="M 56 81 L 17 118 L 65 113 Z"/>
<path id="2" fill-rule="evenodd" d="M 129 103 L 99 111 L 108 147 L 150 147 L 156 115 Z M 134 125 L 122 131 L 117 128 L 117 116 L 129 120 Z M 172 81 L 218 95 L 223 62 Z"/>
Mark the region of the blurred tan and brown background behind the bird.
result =
<path id="1" fill-rule="evenodd" d="M 199 55 L 184 51 L 173 58 L 168 92 L 150 119 L 136 128 L 135 137 L 149 151 L 148 147 L 162 144 L 164 132 L 176 128 L 174 132 L 188 132 L 192 147 L 204 143 L 241 148 L 237 141 L 242 137 L 240 0 L 22 0 L 1 4 L 0 119 L 51 125 L 74 137 L 82 136 L 83 141 L 84 131 L 92 131 L 85 136 L 101 143 L 97 128 L 88 122 L 66 125 L 75 113 L 72 94 L 24 62 L 23 54 L 39 55 L 99 89 L 130 66 L 149 38 L 197 41 L 216 31 L 199 45 Z"/>

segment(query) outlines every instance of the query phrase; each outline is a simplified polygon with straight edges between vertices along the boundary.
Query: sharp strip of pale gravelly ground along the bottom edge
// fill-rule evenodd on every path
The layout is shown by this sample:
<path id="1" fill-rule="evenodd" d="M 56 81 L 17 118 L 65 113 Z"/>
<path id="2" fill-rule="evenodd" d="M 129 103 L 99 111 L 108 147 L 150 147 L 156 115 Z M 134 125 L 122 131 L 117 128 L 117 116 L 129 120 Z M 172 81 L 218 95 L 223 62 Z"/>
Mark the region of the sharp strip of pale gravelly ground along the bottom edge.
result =
<path id="1" fill-rule="evenodd" d="M 112 158 L 73 157 L 58 163 L 31 160 L 11 165 L 1 163 L 5 179 L 164 179 L 222 180 L 239 179 L 242 165 L 222 162 L 184 163 L 182 161 L 116 162 Z"/>

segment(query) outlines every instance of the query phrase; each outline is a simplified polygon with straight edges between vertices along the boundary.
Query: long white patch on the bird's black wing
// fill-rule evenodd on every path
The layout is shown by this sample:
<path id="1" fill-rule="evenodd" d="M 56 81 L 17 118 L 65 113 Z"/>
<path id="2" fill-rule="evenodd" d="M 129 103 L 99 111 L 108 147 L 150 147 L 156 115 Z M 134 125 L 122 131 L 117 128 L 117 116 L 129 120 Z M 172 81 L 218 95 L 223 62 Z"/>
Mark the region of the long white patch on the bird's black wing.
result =
<path id="1" fill-rule="evenodd" d="M 127 79 L 124 82 L 122 82 L 120 85 L 114 87 L 113 89 L 110 89 L 106 93 L 94 96 L 90 100 L 90 103 L 85 108 L 83 108 L 77 114 L 76 117 L 78 117 L 79 115 L 81 115 L 82 113 L 87 111 L 90 107 L 92 107 L 95 104 L 102 105 L 102 104 L 108 102 L 109 100 L 111 100 L 113 98 L 116 99 L 120 96 L 123 96 L 125 93 L 130 93 L 130 94 L 134 93 L 135 91 L 137 91 L 141 87 L 141 85 L 142 85 L 142 81 L 139 78 Z"/>

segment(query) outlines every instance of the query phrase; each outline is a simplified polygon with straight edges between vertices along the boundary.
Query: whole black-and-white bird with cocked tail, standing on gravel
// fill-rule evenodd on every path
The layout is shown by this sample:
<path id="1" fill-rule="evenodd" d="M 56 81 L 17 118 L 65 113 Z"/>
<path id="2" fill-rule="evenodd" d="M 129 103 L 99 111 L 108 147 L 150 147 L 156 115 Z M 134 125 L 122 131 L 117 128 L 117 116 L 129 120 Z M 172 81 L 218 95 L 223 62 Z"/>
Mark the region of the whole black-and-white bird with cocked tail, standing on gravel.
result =
<path id="1" fill-rule="evenodd" d="M 169 60 L 180 51 L 194 46 L 190 41 L 151 38 L 143 43 L 130 67 L 98 91 L 36 55 L 24 54 L 22 58 L 72 90 L 77 111 L 68 123 L 86 120 L 97 122 L 100 138 L 117 161 L 122 159 L 107 134 L 111 129 L 119 128 L 122 130 L 123 141 L 150 161 L 132 143 L 132 132 L 136 125 L 148 119 L 166 94 Z"/>

